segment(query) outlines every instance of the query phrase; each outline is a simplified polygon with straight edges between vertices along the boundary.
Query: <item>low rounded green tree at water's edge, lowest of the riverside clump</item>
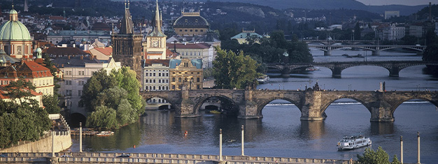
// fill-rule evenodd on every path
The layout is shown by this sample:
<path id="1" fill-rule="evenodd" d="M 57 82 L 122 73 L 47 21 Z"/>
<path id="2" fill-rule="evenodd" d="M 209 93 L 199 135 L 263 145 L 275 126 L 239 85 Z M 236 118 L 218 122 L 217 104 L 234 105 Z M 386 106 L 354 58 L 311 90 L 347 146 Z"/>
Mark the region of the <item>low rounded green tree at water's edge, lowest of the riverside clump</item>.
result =
<path id="1" fill-rule="evenodd" d="M 96 107 L 96 111 L 87 118 L 87 126 L 106 129 L 118 127 L 115 110 L 106 106 Z"/>

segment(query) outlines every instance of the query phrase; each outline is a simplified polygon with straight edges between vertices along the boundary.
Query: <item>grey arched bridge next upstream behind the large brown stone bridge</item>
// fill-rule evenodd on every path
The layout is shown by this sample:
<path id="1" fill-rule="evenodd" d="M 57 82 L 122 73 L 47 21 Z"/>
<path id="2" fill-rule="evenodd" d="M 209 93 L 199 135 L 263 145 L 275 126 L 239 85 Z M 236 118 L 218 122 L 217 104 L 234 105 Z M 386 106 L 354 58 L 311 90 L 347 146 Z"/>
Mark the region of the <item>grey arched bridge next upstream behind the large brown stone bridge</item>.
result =
<path id="1" fill-rule="evenodd" d="M 410 66 L 438 66 L 437 61 L 347 61 L 314 62 L 311 64 L 267 64 L 267 68 L 281 70 L 283 77 L 289 77 L 290 70 L 311 66 L 325 67 L 332 70 L 332 77 L 341 77 L 342 70 L 354 66 L 380 66 L 389 70 L 390 77 L 399 77 L 400 70 Z"/>

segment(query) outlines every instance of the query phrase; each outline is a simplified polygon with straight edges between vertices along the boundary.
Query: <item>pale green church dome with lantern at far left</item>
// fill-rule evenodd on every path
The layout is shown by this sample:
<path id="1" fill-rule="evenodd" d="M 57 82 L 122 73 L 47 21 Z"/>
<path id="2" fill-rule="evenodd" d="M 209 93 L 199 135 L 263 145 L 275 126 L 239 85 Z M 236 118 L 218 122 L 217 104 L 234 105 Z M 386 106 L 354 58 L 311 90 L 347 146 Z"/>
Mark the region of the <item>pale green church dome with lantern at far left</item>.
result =
<path id="1" fill-rule="evenodd" d="M 17 19 L 17 11 L 12 9 L 8 22 L 0 26 L 0 40 L 31 40 L 27 27 Z"/>

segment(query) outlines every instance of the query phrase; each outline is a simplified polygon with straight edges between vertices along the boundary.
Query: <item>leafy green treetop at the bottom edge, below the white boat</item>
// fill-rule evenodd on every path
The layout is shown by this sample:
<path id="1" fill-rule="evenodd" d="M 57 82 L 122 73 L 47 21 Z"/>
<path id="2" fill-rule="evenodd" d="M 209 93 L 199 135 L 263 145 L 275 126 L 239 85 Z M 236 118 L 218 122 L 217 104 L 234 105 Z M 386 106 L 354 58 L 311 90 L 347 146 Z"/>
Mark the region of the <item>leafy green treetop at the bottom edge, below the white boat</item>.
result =
<path id="1" fill-rule="evenodd" d="M 365 152 L 363 156 L 360 156 L 358 154 L 358 163 L 360 164 L 399 164 L 400 161 L 398 161 L 397 156 L 394 155 L 393 162 L 389 161 L 389 156 L 386 151 L 382 149 L 382 147 L 379 147 L 377 151 L 374 151 L 371 148 L 365 149 Z"/>

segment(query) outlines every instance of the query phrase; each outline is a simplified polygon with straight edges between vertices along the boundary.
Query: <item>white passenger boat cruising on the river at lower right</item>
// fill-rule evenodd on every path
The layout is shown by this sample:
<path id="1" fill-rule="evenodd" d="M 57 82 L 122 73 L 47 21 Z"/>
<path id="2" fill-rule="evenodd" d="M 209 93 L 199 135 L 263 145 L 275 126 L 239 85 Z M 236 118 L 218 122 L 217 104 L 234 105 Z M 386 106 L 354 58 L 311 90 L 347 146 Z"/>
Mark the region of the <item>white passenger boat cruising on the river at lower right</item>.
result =
<path id="1" fill-rule="evenodd" d="M 339 150 L 343 149 L 356 149 L 359 147 L 366 147 L 372 144 L 369 137 L 365 137 L 363 134 L 358 135 L 344 135 L 342 140 L 337 144 Z"/>

